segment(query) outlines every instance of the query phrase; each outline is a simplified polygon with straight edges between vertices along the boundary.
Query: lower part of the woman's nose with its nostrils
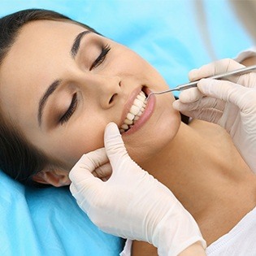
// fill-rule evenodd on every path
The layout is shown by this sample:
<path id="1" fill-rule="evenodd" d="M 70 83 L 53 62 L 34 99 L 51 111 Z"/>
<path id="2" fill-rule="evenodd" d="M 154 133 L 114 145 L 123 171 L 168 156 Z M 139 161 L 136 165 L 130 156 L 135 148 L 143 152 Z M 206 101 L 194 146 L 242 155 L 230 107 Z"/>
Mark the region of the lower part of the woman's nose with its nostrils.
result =
<path id="1" fill-rule="evenodd" d="M 89 81 L 88 87 L 90 94 L 103 109 L 113 106 L 115 99 L 122 91 L 119 76 L 93 75 Z"/>

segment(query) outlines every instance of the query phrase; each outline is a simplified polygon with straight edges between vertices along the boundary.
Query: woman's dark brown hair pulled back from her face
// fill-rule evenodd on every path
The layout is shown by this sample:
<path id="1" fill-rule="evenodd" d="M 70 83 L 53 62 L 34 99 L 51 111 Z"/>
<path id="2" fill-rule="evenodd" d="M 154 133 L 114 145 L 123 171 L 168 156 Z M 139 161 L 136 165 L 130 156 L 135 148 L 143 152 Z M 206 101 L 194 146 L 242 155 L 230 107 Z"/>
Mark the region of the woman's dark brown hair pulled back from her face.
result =
<path id="1" fill-rule="evenodd" d="M 71 22 L 97 33 L 93 28 L 55 11 L 42 9 L 17 11 L 0 19 L 0 65 L 14 44 L 20 29 L 35 20 Z M 32 176 L 49 164 L 50 161 L 46 154 L 28 143 L 19 128 L 16 128 L 11 117 L 4 116 L 0 107 L 0 168 L 2 171 L 24 184 L 41 186 L 32 180 Z"/>

